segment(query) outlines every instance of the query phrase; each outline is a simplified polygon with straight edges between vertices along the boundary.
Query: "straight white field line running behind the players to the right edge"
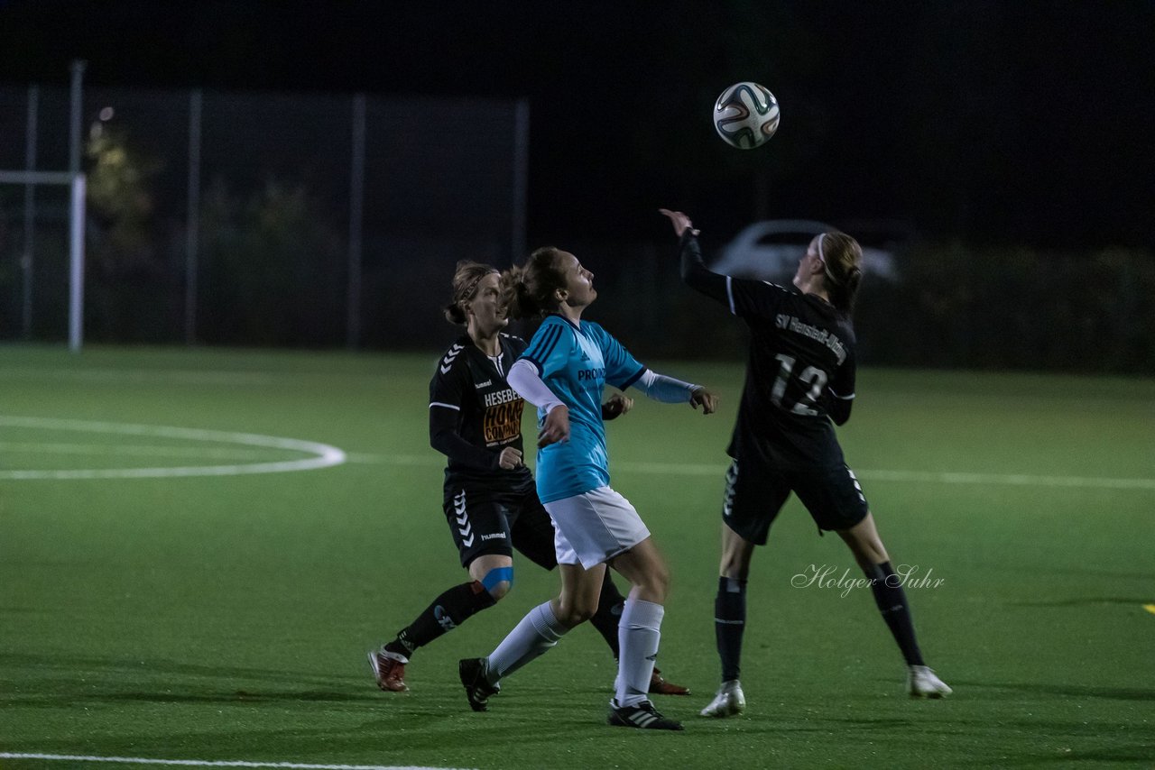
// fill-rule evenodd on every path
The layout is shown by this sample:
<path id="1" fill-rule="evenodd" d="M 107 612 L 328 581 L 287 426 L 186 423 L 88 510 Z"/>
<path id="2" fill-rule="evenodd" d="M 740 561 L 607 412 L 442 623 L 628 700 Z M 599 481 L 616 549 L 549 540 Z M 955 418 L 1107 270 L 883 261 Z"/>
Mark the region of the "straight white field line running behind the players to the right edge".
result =
<path id="1" fill-rule="evenodd" d="M 350 453 L 350 463 L 383 465 L 444 465 L 440 455 L 373 455 Z M 654 476 L 716 476 L 725 473 L 725 465 L 693 465 L 690 463 L 612 463 L 611 470 L 624 473 Z M 1088 476 L 1036 476 L 1030 473 L 962 473 L 952 471 L 885 471 L 855 470 L 855 476 L 871 481 L 907 484 L 1003 484 L 1008 486 L 1082 487 L 1102 489 L 1155 489 L 1155 479 L 1102 478 Z"/>

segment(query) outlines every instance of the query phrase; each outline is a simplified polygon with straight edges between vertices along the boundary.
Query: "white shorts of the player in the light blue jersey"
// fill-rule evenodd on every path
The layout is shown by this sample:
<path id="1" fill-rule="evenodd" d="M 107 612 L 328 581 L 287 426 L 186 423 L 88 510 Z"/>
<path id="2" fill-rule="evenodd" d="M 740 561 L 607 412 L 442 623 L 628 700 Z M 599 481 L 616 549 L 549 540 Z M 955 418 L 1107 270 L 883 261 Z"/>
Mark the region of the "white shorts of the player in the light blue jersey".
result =
<path id="1" fill-rule="evenodd" d="M 601 565 L 649 537 L 629 501 L 610 487 L 547 502 L 559 565 Z"/>

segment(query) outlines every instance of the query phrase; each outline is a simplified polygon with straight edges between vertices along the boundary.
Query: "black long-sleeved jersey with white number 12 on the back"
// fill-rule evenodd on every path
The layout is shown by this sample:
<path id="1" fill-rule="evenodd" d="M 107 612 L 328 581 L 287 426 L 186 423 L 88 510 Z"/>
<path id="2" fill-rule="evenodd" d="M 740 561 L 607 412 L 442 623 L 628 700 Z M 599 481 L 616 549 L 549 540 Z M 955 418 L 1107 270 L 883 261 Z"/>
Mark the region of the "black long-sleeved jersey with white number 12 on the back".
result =
<path id="1" fill-rule="evenodd" d="M 841 464 L 830 418 L 845 421 L 855 396 L 855 332 L 845 314 L 792 287 L 710 272 L 693 236 L 683 238 L 681 269 L 686 283 L 724 302 L 750 327 L 730 456 L 753 441 L 777 463 Z"/>

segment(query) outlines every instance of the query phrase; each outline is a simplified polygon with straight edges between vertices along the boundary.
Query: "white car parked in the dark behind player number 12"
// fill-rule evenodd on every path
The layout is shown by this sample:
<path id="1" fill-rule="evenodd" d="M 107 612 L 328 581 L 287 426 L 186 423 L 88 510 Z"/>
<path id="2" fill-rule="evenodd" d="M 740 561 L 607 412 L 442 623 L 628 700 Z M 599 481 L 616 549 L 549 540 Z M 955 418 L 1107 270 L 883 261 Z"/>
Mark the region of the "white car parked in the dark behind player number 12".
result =
<path id="1" fill-rule="evenodd" d="M 742 278 L 789 282 L 814 236 L 840 230 L 813 219 L 767 219 L 744 227 L 718 252 L 710 270 Z M 894 254 L 863 244 L 863 274 L 897 279 Z"/>

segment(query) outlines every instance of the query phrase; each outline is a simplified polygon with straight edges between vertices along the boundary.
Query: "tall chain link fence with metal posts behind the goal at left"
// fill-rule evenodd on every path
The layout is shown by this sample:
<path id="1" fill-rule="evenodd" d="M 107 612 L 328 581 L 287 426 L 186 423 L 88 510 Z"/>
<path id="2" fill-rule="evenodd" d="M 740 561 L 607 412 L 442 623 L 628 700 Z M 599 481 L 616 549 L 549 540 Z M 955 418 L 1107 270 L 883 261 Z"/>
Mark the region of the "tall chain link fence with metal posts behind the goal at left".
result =
<path id="1" fill-rule="evenodd" d="M 524 104 L 90 89 L 85 339 L 405 347 L 460 259 L 524 248 Z M 0 169 L 68 169 L 69 94 L 0 88 Z M 31 137 L 31 139 L 30 139 Z M 67 190 L 0 185 L 0 338 L 67 329 Z"/>

